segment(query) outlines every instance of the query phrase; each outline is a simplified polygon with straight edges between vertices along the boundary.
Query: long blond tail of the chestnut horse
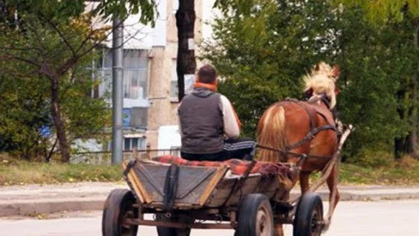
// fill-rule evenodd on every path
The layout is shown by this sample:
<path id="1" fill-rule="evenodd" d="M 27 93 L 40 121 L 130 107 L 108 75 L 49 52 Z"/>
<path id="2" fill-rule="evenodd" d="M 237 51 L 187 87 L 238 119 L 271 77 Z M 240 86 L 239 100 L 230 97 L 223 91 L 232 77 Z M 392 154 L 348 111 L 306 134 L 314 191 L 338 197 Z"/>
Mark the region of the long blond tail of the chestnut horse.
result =
<path id="1" fill-rule="evenodd" d="M 268 108 L 258 124 L 258 145 L 284 150 L 288 144 L 285 122 L 285 109 L 280 103 Z M 258 149 L 258 158 L 260 161 L 286 161 L 283 154 L 263 147 Z"/>

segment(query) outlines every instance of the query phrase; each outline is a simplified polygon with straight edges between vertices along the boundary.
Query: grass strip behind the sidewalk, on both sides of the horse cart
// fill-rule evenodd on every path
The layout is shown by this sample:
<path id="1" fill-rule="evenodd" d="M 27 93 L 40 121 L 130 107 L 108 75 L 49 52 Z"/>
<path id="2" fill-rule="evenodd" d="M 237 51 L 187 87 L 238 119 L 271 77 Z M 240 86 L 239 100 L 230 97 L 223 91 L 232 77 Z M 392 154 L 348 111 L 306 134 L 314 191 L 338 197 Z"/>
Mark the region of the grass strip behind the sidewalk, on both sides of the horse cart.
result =
<path id="1" fill-rule="evenodd" d="M 115 182 L 122 180 L 122 171 L 121 165 L 39 163 L 0 156 L 0 186 Z M 344 163 L 340 168 L 340 184 L 417 185 L 419 161 L 406 157 L 378 167 Z"/>

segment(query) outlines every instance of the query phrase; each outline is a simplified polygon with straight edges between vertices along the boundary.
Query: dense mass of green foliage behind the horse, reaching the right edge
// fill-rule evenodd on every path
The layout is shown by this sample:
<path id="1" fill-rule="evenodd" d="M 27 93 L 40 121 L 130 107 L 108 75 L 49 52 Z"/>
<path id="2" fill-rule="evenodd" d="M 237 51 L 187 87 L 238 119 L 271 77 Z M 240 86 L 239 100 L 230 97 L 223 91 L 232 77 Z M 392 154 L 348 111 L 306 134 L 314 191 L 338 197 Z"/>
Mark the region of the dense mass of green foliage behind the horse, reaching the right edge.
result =
<path id="1" fill-rule="evenodd" d="M 225 78 L 219 90 L 235 105 L 245 135 L 256 133 L 268 105 L 286 96 L 300 98 L 301 76 L 316 62 L 327 61 L 341 68 L 340 118 L 355 126 L 345 147 L 346 161 L 385 164 L 388 155 L 382 152 L 393 152 L 395 138 L 411 130 L 409 87 L 419 64 L 413 12 L 377 25 L 357 4 L 249 2 L 253 5 L 247 9 L 223 9 L 204 57 Z M 231 7 L 241 1 L 217 3 Z"/>

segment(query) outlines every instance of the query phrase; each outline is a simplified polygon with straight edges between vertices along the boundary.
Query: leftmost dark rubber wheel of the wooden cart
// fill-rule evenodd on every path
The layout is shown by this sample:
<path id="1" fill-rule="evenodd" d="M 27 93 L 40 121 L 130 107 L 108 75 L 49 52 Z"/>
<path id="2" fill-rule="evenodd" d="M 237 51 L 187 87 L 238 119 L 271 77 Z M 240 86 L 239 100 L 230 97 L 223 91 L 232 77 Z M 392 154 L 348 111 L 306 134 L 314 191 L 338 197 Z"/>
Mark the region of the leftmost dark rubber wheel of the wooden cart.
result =
<path id="1" fill-rule="evenodd" d="M 138 226 L 124 224 L 127 218 L 136 218 L 138 208 L 133 193 L 128 189 L 114 189 L 106 198 L 102 216 L 103 236 L 135 236 Z"/>

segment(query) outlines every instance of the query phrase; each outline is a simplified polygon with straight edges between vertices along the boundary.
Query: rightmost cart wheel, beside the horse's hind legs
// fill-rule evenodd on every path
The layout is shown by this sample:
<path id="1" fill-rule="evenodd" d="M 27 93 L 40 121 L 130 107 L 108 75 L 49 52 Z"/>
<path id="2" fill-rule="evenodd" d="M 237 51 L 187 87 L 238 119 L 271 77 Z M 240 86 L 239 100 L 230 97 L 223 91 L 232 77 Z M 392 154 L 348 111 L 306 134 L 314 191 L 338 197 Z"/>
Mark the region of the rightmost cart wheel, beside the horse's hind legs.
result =
<path id="1" fill-rule="evenodd" d="M 306 193 L 300 199 L 295 213 L 294 236 L 320 236 L 323 221 L 323 202 L 315 193 Z"/>

